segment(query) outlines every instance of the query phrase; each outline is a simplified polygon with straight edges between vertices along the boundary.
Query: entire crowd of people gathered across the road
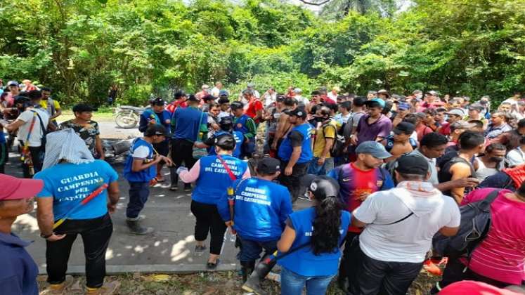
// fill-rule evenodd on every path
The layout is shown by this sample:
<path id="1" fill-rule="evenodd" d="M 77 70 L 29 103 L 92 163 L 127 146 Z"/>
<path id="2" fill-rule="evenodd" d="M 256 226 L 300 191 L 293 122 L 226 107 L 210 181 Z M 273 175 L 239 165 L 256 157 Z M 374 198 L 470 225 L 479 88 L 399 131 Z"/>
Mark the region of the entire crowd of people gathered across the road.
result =
<path id="1" fill-rule="evenodd" d="M 112 294 L 118 284 L 104 283 L 105 251 L 119 175 L 104 161 L 93 108 L 74 105 L 75 118 L 58 124 L 51 89 L 30 81 L 25 89 L 16 81 L 6 86 L 0 172 L 16 138 L 24 176 L 32 179 L 0 175 L 0 251 L 8 257 L 0 288 L 37 293 L 27 243 L 11 232 L 36 196 L 47 294 L 67 287 L 77 235 L 86 255 L 86 294 Z M 210 235 L 206 268 L 215 270 L 225 235 L 235 235 L 247 291 L 264 294 L 259 282 L 276 264 L 282 294 L 302 294 L 305 287 L 306 294 L 325 294 L 336 275 L 346 294 L 406 294 L 422 268 L 439 275 L 443 265 L 432 294 L 524 284 L 521 93 L 496 107 L 488 96 L 474 101 L 419 90 L 354 96 L 321 87 L 307 98 L 294 87 L 260 95 L 248 84 L 234 97 L 218 82 L 195 94 L 178 91 L 171 101 L 150 100 L 138 128 L 143 137 L 134 140 L 122 173 L 129 183 L 129 232 L 153 232 L 141 225 L 140 213 L 150 187 L 167 181 L 166 165 L 169 190 L 183 183 L 192 191 L 195 254 L 205 253 Z M 311 207 L 294 211 L 297 199 Z M 465 208 L 486 199 L 488 228 L 478 228 L 461 253 L 436 251 L 435 237 L 462 237 L 472 224 L 464 222 Z"/>

